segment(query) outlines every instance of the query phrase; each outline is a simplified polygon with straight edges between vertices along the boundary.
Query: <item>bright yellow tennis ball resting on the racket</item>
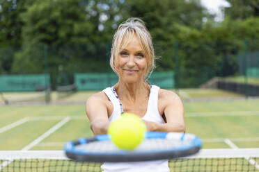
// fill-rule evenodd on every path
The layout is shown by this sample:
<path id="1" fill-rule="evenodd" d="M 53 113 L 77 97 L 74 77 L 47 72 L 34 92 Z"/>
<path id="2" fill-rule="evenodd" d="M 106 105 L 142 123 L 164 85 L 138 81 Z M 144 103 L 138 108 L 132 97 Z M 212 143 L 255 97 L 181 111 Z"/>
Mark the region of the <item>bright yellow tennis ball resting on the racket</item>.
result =
<path id="1" fill-rule="evenodd" d="M 124 113 L 123 117 L 110 123 L 108 134 L 111 141 L 121 149 L 133 150 L 141 141 L 146 133 L 146 125 L 135 114 Z"/>

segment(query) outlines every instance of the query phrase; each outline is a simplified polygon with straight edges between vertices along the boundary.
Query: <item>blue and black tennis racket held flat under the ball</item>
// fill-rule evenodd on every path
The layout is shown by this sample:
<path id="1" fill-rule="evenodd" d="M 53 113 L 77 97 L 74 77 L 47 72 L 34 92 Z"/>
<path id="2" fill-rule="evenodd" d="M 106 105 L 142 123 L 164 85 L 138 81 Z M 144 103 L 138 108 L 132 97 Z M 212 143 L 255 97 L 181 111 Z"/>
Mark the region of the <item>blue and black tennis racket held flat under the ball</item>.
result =
<path id="1" fill-rule="evenodd" d="M 198 153 L 199 137 L 180 132 L 146 132 L 145 139 L 134 150 L 117 148 L 109 135 L 96 135 L 68 141 L 65 155 L 80 162 L 137 162 L 185 157 Z"/>

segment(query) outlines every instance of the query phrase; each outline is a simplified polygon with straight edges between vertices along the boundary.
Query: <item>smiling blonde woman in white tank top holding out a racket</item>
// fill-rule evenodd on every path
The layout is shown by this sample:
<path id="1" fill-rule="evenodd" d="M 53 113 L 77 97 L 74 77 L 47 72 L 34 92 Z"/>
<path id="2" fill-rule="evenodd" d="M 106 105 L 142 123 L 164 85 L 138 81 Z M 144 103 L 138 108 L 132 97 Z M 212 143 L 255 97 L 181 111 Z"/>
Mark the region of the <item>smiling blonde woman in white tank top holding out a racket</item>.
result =
<path id="1" fill-rule="evenodd" d="M 118 83 L 86 102 L 86 114 L 95 135 L 106 134 L 109 123 L 123 112 L 138 115 L 149 131 L 185 132 L 180 98 L 146 80 L 155 68 L 155 53 L 141 19 L 130 18 L 120 24 L 113 37 L 110 65 L 118 74 Z M 169 171 L 167 160 L 104 163 L 101 167 L 105 172 Z"/>

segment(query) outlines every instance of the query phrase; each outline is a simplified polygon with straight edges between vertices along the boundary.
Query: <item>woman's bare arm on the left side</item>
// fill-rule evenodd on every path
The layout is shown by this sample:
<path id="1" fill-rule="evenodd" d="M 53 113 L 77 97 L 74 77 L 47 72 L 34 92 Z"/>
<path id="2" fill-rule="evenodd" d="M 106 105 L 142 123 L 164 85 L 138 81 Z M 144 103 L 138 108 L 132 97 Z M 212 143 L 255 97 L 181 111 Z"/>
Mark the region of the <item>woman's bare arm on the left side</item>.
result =
<path id="1" fill-rule="evenodd" d="M 86 101 L 86 115 L 91 122 L 94 135 L 107 134 L 109 127 L 107 103 L 102 92 L 94 94 Z"/>

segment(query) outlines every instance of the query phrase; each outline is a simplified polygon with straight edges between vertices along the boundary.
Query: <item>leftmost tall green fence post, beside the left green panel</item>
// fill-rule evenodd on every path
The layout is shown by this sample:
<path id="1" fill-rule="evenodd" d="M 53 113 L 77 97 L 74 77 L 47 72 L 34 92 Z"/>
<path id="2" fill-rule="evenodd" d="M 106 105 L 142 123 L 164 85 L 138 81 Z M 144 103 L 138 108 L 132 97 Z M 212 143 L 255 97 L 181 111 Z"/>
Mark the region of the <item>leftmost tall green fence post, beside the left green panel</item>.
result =
<path id="1" fill-rule="evenodd" d="M 48 67 L 48 60 L 47 60 L 47 51 L 48 46 L 46 44 L 43 45 L 43 52 L 44 52 L 44 63 L 45 63 L 45 103 L 48 104 L 50 101 L 50 87 L 49 87 L 49 67 Z"/>

